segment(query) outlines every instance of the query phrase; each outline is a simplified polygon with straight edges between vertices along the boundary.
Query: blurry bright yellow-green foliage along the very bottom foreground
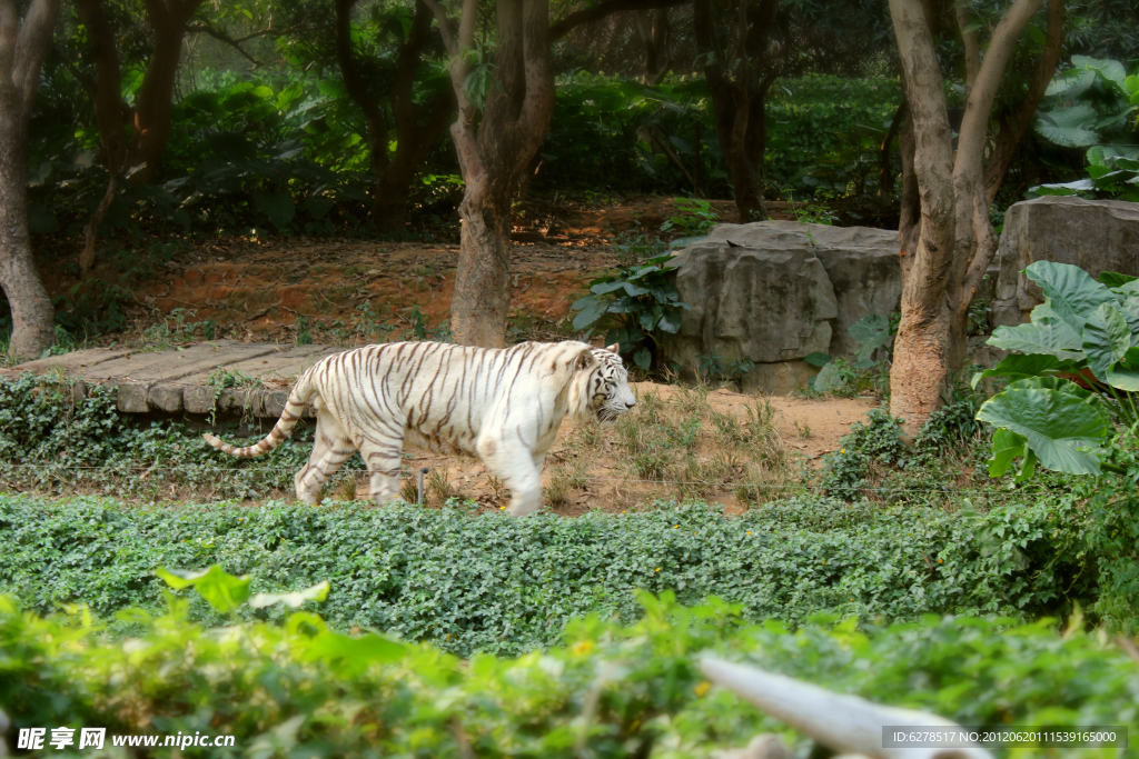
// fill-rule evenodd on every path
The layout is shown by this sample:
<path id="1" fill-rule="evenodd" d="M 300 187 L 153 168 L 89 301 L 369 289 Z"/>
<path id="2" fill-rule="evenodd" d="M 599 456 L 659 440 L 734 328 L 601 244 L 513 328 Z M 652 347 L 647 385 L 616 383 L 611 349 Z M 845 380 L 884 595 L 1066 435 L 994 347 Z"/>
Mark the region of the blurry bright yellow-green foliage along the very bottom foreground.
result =
<path id="1" fill-rule="evenodd" d="M 181 577 L 172 579 L 198 583 L 223 612 L 248 596 L 247 580 L 218 568 Z M 58 726 L 235 737 L 232 748 L 194 751 L 210 757 L 695 759 L 771 729 L 803 743 L 711 687 L 695 668 L 700 651 L 964 725 L 1128 725 L 1132 735 L 1139 726 L 1136 663 L 1079 620 L 1063 636 L 1047 620 L 933 616 L 865 633 L 854 620 L 816 619 L 789 633 L 746 625 L 739 607 L 714 599 L 685 609 L 672 594 L 642 594 L 634 626 L 590 616 L 546 653 L 462 663 L 429 644 L 334 633 L 310 611 L 281 626 L 204 629 L 183 600 L 167 600 L 158 618 L 120 612 L 141 629 L 113 643 L 83 611 L 41 619 L 0 596 L 9 744 L 21 727 Z M 281 602 L 304 597 L 251 599 Z"/>

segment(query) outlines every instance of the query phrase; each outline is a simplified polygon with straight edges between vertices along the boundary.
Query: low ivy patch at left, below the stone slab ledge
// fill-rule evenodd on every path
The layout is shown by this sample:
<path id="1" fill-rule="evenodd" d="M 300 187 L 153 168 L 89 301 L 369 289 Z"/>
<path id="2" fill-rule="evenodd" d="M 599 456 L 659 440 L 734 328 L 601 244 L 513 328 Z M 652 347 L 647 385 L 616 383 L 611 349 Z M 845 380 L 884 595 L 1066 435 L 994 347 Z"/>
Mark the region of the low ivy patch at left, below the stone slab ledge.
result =
<path id="1" fill-rule="evenodd" d="M 215 387 L 240 379 L 222 372 Z M 80 395 L 73 382 L 23 374 L 0 380 L 0 479 L 8 487 L 148 497 L 171 497 L 179 488 L 237 498 L 292 493 L 293 473 L 311 451 L 300 440 L 302 429 L 260 459 L 235 459 L 180 422 L 138 423 L 120 414 L 114 388 L 91 385 Z M 355 456 L 338 478 L 361 468 Z"/>

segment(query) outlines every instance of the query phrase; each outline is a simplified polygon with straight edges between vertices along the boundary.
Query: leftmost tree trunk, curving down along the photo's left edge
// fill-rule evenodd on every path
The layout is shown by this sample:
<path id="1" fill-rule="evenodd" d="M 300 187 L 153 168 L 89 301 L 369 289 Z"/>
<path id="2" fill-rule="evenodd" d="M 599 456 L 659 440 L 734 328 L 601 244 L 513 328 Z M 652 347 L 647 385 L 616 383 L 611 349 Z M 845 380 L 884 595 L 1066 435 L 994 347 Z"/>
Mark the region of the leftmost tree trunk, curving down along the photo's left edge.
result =
<path id="1" fill-rule="evenodd" d="M 34 358 L 55 340 L 55 310 L 27 230 L 27 129 L 59 0 L 33 0 L 21 23 L 0 0 L 0 287 L 11 307 L 8 355 Z"/>

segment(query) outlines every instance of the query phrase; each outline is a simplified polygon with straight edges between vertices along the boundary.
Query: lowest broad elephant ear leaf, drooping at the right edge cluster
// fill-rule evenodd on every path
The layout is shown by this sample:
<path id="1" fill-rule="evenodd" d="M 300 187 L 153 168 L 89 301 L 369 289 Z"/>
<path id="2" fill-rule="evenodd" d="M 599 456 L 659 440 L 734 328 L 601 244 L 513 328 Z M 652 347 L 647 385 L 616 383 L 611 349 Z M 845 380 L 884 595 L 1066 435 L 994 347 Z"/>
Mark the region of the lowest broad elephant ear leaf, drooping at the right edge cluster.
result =
<path id="1" fill-rule="evenodd" d="M 1097 449 L 1111 434 L 1103 411 L 1079 393 L 1041 387 L 1051 383 L 1041 382 L 1041 379 L 1055 378 L 1014 382 L 986 401 L 977 419 L 1024 437 L 1046 469 L 1068 475 L 1098 475 Z M 1057 381 L 1075 387 L 1066 380 Z M 1010 455 L 1008 461 L 1011 461 Z"/>

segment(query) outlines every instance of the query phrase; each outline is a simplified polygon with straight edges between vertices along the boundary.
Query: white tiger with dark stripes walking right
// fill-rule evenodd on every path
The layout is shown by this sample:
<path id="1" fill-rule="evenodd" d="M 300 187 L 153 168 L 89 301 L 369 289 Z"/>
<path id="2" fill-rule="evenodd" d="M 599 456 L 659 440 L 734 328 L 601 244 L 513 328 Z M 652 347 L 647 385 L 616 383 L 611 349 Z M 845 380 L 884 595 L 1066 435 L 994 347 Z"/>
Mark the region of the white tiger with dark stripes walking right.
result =
<path id="1" fill-rule="evenodd" d="M 338 353 L 309 369 L 260 443 L 238 448 L 204 437 L 230 455 L 260 456 L 288 437 L 313 396 L 316 442 L 295 478 L 304 503 L 319 503 L 321 486 L 358 449 L 376 503 L 392 501 L 408 443 L 478 456 L 510 488 L 515 517 L 540 508 L 542 463 L 566 415 L 612 424 L 637 403 L 616 345 L 390 343 Z"/>

